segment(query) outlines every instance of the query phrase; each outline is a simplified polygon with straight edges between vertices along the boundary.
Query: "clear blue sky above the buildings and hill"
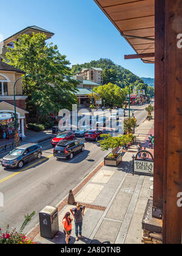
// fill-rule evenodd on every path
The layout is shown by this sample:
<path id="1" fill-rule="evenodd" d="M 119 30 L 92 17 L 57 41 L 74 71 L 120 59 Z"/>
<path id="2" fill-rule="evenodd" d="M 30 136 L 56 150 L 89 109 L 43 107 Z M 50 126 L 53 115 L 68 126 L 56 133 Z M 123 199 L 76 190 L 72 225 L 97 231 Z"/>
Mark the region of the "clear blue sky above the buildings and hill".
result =
<path id="1" fill-rule="evenodd" d="M 135 52 L 93 0 L 1 1 L 4 38 L 33 25 L 55 33 L 50 41 L 72 65 L 109 58 L 137 76 L 154 77 L 154 65 L 124 60 Z"/>

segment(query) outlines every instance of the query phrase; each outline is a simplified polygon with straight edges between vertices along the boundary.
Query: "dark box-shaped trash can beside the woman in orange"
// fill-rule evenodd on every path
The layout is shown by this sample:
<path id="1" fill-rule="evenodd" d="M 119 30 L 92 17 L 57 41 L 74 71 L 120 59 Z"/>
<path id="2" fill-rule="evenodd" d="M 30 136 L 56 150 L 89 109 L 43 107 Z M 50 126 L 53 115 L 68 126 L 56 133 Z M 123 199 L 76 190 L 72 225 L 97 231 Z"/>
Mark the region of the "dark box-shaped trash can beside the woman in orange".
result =
<path id="1" fill-rule="evenodd" d="M 40 233 L 44 238 L 53 239 L 59 232 L 58 208 L 46 206 L 39 212 Z"/>

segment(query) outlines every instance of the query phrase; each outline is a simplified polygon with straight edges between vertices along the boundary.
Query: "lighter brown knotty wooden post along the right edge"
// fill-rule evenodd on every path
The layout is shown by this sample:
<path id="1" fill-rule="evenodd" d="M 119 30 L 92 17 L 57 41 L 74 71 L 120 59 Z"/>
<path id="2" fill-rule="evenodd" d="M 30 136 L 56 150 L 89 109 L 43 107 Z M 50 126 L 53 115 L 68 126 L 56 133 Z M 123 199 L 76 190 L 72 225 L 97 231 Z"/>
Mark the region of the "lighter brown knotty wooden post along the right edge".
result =
<path id="1" fill-rule="evenodd" d="M 182 207 L 182 48 L 181 0 L 165 0 L 165 116 L 164 116 L 164 243 L 181 244 Z M 180 201 L 180 202 L 178 202 Z"/>

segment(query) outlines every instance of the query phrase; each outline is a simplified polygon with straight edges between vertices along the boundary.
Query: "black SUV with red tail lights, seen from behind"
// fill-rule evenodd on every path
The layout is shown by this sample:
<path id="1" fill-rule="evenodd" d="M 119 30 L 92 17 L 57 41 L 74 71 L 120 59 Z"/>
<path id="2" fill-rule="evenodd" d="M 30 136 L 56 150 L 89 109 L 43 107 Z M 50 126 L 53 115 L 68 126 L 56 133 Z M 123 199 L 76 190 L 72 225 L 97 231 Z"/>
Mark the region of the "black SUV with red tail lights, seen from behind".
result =
<path id="1" fill-rule="evenodd" d="M 53 155 L 56 158 L 69 158 L 72 159 L 78 152 L 84 151 L 84 143 L 81 141 L 61 141 L 54 149 Z"/>

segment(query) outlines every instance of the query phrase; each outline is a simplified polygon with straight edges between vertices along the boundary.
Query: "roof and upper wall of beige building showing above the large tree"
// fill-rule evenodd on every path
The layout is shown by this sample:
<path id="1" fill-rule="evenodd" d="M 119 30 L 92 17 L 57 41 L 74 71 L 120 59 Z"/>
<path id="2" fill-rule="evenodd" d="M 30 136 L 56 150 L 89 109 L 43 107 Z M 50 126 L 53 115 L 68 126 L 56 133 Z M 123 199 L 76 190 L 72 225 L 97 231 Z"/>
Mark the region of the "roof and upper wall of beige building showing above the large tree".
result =
<path id="1" fill-rule="evenodd" d="M 14 35 L 11 35 L 10 37 L 8 37 L 7 39 L 5 39 L 0 43 L 0 60 L 1 61 L 6 60 L 5 54 L 8 51 L 8 48 L 14 48 L 13 41 L 18 41 L 19 35 L 24 35 L 24 34 L 32 35 L 33 33 L 35 34 L 44 33 L 47 36 L 47 39 L 52 38 L 52 36 L 54 35 L 52 32 L 48 30 L 41 29 L 41 27 L 37 27 L 37 26 L 26 27 L 25 29 L 22 29 L 21 31 L 17 32 Z"/>

